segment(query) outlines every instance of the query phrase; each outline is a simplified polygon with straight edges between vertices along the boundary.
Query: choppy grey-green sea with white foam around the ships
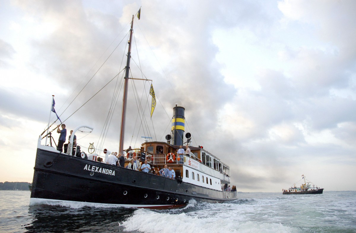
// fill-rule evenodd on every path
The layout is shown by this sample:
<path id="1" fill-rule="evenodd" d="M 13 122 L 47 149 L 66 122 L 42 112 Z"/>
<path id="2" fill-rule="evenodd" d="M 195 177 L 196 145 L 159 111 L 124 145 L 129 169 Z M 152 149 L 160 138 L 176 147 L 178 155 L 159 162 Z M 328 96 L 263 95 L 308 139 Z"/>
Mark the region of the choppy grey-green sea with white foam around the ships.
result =
<path id="1" fill-rule="evenodd" d="M 356 233 L 356 192 L 238 193 L 229 203 L 147 210 L 29 206 L 29 191 L 0 191 L 0 232 Z"/>

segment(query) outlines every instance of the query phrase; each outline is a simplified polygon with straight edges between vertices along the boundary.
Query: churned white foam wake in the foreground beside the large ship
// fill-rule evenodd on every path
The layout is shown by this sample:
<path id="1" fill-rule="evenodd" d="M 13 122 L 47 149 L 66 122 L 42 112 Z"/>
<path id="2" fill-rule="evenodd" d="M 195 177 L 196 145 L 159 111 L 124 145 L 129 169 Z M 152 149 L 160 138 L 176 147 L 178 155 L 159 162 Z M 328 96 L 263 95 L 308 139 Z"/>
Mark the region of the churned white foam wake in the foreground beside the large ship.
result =
<path id="1" fill-rule="evenodd" d="M 296 228 L 283 226 L 278 223 L 236 222 L 229 218 L 199 218 L 185 213 L 157 213 L 147 209 L 138 209 L 133 216 L 124 221 L 121 226 L 125 231 L 140 231 L 144 233 L 299 233 Z"/>

